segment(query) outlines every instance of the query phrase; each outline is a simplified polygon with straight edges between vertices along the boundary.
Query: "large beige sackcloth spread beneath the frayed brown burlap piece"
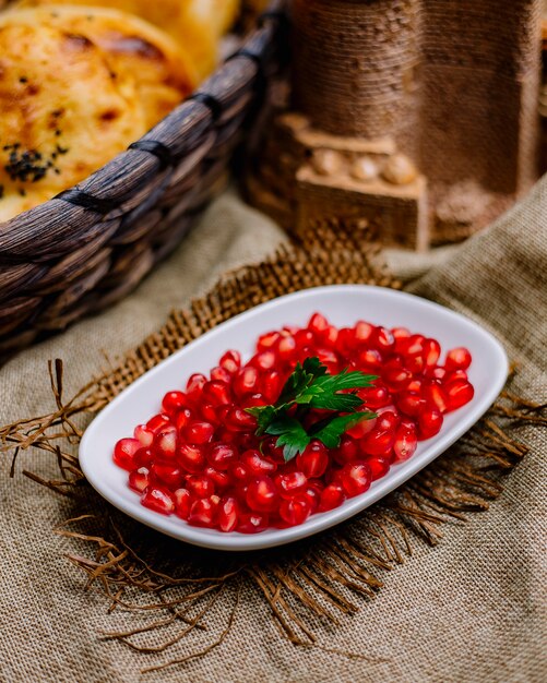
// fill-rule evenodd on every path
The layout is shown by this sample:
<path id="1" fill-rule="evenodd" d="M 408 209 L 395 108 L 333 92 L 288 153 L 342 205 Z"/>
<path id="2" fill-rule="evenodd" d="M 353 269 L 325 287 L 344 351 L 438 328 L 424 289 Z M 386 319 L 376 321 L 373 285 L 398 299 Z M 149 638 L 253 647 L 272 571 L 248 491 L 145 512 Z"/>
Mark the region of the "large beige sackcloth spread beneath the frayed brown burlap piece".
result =
<path id="1" fill-rule="evenodd" d="M 389 252 L 411 289 L 491 329 L 521 363 L 516 390 L 547 398 L 547 179 L 491 228 L 463 245 L 412 256 Z M 48 412 L 46 363 L 62 358 L 69 396 L 102 366 L 102 351 L 122 352 L 160 325 L 169 310 L 203 293 L 217 275 L 270 253 L 283 239 L 266 218 L 233 194 L 222 196 L 178 251 L 131 297 L 12 359 L 0 370 L 0 422 Z M 437 263 L 435 263 L 437 262 Z M 435 264 L 431 267 L 431 264 Z M 530 454 L 504 481 L 488 512 L 445 528 L 437 548 L 417 544 L 360 611 L 320 631 L 321 644 L 371 661 L 304 649 L 280 637 L 269 607 L 252 589 L 226 640 L 206 657 L 141 674 L 146 666 L 199 649 L 192 634 L 176 652 L 136 654 L 104 642 L 99 630 L 131 625 L 131 614 L 106 613 L 98 592 L 63 553 L 74 542 L 51 532 L 74 515 L 64 499 L 21 475 L 53 476 L 49 458 L 25 454 L 0 480 L 0 680 L 134 683 L 183 682 L 498 682 L 545 681 L 547 534 L 545 432 L 522 428 Z M 116 620 L 116 624 L 112 623 Z M 121 621 L 120 621 L 121 620 Z M 226 614 L 207 619 L 219 633 Z M 194 637 L 195 635 L 195 637 Z"/>

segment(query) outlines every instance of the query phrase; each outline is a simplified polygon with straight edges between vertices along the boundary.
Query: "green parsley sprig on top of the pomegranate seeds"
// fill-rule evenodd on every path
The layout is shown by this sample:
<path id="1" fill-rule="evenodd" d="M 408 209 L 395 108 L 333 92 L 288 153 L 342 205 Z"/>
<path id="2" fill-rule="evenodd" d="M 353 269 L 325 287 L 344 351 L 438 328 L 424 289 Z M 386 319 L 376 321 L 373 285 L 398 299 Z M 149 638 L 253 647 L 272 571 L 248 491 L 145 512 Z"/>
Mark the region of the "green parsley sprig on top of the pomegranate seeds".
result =
<path id="1" fill-rule="evenodd" d="M 371 386 L 377 379 L 347 368 L 338 374 L 326 374 L 326 367 L 319 358 L 307 358 L 302 364 L 297 363 L 275 404 L 247 408 L 247 412 L 257 418 L 257 436 L 277 436 L 276 445 L 283 447 L 288 462 L 304 453 L 312 439 L 328 448 L 336 448 L 345 431 L 361 420 L 377 417 L 374 412 L 357 411 L 362 399 L 347 393 Z M 306 428 L 311 410 L 330 410 L 331 415 Z"/>

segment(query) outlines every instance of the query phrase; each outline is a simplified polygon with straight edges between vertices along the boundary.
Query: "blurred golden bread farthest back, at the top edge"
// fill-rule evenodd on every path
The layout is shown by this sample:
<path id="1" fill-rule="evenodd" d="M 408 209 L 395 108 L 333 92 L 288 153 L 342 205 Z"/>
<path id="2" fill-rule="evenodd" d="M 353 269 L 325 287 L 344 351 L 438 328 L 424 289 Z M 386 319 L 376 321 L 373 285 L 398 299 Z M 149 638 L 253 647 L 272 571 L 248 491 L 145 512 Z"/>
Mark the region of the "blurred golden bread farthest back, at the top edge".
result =
<path id="1" fill-rule="evenodd" d="M 20 0 L 16 7 L 38 7 L 51 0 Z M 191 56 L 200 77 L 217 61 L 218 38 L 234 24 L 240 0 L 60 0 L 59 4 L 97 5 L 140 16 L 170 34 Z"/>

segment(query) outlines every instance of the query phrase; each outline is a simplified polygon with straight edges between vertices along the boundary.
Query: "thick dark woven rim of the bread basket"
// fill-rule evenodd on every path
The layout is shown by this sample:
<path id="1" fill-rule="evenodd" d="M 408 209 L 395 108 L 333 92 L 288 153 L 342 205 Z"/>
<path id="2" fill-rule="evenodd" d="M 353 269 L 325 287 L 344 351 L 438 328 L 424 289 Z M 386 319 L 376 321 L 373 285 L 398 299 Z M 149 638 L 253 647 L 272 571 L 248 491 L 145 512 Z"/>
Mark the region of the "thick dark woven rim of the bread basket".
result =
<path id="1" fill-rule="evenodd" d="M 79 247 L 92 241 L 97 235 L 97 221 L 105 225 L 124 213 L 132 199 L 150 183 L 151 173 L 160 175 L 191 155 L 209 131 L 225 117 L 234 115 L 230 105 L 235 94 L 249 86 L 249 63 L 254 69 L 253 79 L 260 85 L 264 77 L 263 55 L 255 44 L 260 45 L 261 34 L 271 31 L 272 24 L 278 25 L 286 20 L 284 7 L 283 0 L 271 2 L 242 47 L 128 149 L 82 182 L 0 223 L 0 266 L 37 263 L 58 257 L 59 253 L 69 253 L 75 247 L 76 227 Z M 229 92 L 227 83 L 230 84 Z M 189 132 L 191 134 L 185 134 Z M 135 201 L 135 205 L 141 202 Z M 62 225 L 58 221 L 52 225 L 52 218 L 60 212 Z M 90 233 L 85 233 L 86 228 Z"/>

